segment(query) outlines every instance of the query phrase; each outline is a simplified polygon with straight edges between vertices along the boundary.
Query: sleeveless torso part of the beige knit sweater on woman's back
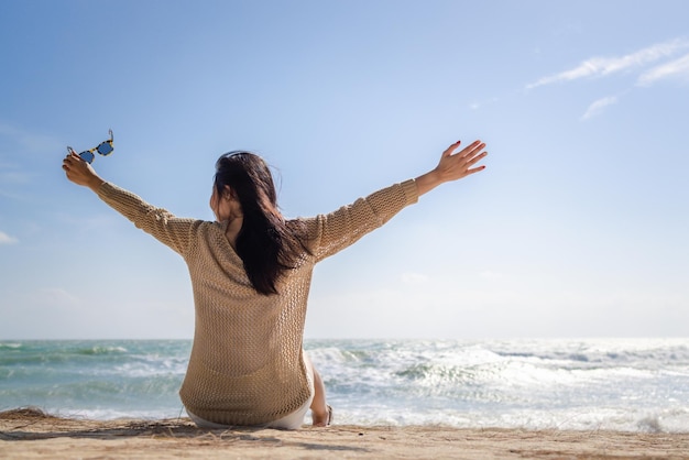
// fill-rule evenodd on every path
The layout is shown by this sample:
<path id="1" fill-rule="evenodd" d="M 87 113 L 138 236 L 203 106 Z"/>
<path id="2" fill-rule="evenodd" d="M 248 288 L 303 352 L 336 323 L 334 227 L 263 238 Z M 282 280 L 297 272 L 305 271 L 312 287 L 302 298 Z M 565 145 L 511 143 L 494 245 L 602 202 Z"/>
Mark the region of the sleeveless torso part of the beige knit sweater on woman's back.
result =
<path id="1" fill-rule="evenodd" d="M 196 325 L 179 394 L 204 419 L 258 425 L 294 412 L 310 395 L 302 338 L 313 263 L 304 259 L 291 270 L 278 294 L 260 294 L 225 227 L 200 224 L 185 254 Z"/>

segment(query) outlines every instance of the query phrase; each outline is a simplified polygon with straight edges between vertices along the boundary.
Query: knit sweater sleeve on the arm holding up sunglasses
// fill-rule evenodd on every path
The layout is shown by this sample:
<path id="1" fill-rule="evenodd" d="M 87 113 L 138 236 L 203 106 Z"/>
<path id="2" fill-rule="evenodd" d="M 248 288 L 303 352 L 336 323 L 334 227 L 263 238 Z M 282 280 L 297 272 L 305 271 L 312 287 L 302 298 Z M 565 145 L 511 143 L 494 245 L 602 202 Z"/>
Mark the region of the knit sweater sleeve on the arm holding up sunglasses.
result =
<path id="1" fill-rule="evenodd" d="M 128 218 L 134 226 L 185 255 L 192 241 L 192 231 L 200 222 L 196 219 L 182 219 L 172 212 L 149 205 L 139 196 L 110 183 L 103 183 L 98 197 L 116 211 Z"/>

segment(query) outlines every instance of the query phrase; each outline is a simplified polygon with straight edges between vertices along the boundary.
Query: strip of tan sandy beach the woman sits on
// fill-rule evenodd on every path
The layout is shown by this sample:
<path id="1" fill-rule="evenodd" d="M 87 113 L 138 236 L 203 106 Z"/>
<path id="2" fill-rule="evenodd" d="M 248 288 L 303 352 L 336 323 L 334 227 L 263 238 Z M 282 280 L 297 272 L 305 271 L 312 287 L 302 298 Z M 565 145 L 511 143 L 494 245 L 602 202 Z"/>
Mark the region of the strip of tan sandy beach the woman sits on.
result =
<path id="1" fill-rule="evenodd" d="M 689 459 L 689 434 L 361 427 L 205 430 L 188 418 L 90 420 L 0 413 L 8 459 Z"/>

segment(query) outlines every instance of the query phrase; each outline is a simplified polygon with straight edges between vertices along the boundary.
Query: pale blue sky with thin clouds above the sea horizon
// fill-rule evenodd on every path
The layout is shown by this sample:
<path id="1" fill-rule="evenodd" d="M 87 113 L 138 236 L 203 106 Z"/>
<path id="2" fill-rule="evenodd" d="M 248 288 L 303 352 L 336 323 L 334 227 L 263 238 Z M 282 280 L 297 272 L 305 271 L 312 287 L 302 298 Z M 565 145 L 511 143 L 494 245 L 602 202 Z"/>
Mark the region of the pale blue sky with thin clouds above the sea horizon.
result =
<path id="1" fill-rule="evenodd" d="M 61 169 L 211 219 L 216 158 L 288 217 L 486 169 L 315 272 L 307 338 L 687 337 L 685 1 L 0 2 L 0 339 L 190 338 L 183 260 Z"/>

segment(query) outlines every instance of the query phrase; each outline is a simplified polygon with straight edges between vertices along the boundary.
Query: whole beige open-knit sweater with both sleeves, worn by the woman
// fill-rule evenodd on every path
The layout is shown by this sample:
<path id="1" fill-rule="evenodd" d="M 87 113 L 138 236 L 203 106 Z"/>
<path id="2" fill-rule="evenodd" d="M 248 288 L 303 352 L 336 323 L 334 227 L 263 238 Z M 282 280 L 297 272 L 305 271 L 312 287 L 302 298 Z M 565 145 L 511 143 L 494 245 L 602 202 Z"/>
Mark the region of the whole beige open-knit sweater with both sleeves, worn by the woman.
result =
<path id="1" fill-rule="evenodd" d="M 302 340 L 314 265 L 418 199 L 415 182 L 406 180 L 329 215 L 300 219 L 310 254 L 282 278 L 280 294 L 265 296 L 253 289 L 225 237 L 227 222 L 177 218 L 109 183 L 98 196 L 184 258 L 196 326 L 179 396 L 206 420 L 242 426 L 277 420 L 310 396 Z"/>

